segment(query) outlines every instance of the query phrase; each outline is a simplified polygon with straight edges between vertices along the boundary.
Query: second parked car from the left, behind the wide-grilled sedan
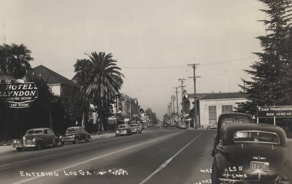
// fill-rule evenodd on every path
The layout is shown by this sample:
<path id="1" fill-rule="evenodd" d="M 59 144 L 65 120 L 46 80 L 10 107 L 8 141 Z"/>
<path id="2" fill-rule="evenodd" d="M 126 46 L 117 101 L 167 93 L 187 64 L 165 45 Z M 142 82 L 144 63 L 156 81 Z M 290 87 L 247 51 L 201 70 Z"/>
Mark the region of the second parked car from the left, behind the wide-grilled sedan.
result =
<path id="1" fill-rule="evenodd" d="M 72 142 L 78 144 L 79 141 L 89 142 L 91 136 L 83 127 L 69 127 L 65 133 L 65 136 L 60 135 L 61 145 L 64 145 L 65 142 Z"/>

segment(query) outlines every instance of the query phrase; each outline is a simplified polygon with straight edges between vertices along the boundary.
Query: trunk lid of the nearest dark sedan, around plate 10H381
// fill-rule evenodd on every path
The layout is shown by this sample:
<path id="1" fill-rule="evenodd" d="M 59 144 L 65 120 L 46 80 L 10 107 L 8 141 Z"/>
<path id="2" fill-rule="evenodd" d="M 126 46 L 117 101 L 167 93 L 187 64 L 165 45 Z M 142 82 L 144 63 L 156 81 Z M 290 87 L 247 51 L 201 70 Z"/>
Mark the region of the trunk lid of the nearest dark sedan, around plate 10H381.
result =
<path id="1" fill-rule="evenodd" d="M 271 144 L 240 144 L 235 147 L 233 163 L 237 168 L 241 166 L 243 170 L 237 170 L 234 174 L 246 174 L 248 180 L 273 181 L 279 176 L 281 169 L 281 149 Z M 269 170 L 251 170 L 251 162 L 268 162 Z M 231 173 L 232 174 L 232 173 Z"/>

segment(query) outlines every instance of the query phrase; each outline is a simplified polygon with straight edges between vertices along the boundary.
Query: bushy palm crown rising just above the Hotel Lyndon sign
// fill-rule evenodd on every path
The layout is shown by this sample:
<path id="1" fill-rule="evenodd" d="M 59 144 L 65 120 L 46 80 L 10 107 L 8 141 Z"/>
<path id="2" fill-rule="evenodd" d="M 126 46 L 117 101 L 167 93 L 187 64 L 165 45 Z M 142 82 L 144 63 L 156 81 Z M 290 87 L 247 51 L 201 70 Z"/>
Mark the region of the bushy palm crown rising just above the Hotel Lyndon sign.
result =
<path id="1" fill-rule="evenodd" d="M 12 43 L 9 46 L 6 67 L 15 78 L 22 78 L 30 68 L 29 62 L 34 60 L 30 54 L 31 51 L 24 44 Z"/>

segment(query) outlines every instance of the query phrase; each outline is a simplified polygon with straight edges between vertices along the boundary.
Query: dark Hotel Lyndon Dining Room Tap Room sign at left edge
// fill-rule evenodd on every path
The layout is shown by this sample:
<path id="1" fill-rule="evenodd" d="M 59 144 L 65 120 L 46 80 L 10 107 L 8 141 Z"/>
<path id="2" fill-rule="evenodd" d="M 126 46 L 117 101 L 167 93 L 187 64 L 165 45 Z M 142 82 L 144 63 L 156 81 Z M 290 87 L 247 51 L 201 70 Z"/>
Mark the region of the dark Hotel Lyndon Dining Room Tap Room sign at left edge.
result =
<path id="1" fill-rule="evenodd" d="M 11 108 L 25 108 L 37 98 L 37 88 L 33 82 L 0 84 L 0 98 Z"/>

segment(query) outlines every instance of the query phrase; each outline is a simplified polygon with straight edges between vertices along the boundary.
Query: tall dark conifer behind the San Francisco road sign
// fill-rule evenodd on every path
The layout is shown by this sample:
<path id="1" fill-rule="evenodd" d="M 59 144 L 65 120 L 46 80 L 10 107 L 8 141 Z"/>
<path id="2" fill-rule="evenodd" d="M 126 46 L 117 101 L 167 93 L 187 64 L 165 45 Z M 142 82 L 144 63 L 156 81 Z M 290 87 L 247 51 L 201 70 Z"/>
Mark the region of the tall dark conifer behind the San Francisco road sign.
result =
<path id="1" fill-rule="evenodd" d="M 247 99 L 238 112 L 256 116 L 257 106 L 292 105 L 292 0 L 258 0 L 266 6 L 268 20 L 260 20 L 267 26 L 266 36 L 258 36 L 261 53 L 254 53 L 259 61 L 245 70 L 252 81 L 243 80 Z M 290 81 L 290 83 L 289 83 Z M 266 119 L 269 121 L 269 119 Z M 273 121 L 273 120 L 272 120 Z"/>

